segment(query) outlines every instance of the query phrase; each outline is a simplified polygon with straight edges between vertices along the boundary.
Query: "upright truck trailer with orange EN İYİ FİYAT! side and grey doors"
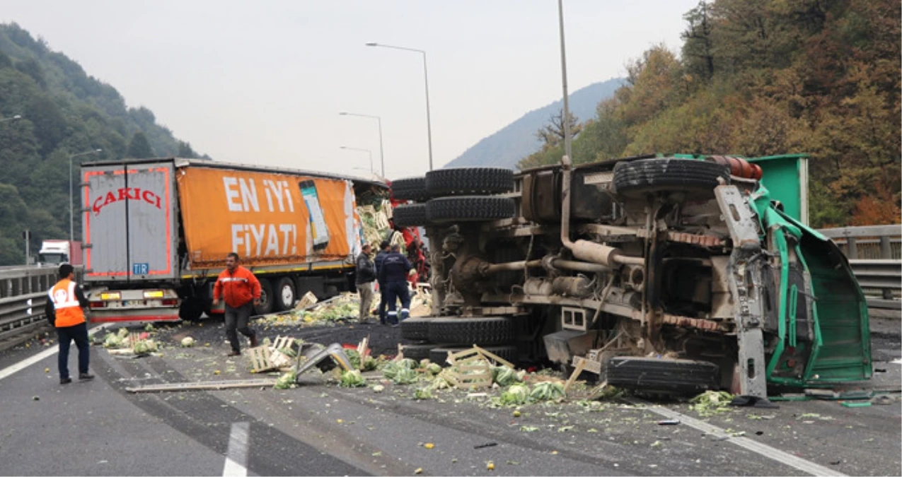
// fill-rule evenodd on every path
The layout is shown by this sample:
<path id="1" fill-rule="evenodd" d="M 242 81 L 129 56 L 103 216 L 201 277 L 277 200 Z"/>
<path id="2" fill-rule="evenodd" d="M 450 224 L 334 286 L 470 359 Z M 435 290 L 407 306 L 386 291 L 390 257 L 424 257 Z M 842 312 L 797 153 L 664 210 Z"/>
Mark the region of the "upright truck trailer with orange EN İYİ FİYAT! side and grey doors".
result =
<path id="1" fill-rule="evenodd" d="M 257 314 L 351 289 L 356 197 L 387 193 L 372 180 L 186 159 L 91 162 L 81 180 L 96 322 L 221 313 L 212 290 L 228 252 L 260 279 Z"/>

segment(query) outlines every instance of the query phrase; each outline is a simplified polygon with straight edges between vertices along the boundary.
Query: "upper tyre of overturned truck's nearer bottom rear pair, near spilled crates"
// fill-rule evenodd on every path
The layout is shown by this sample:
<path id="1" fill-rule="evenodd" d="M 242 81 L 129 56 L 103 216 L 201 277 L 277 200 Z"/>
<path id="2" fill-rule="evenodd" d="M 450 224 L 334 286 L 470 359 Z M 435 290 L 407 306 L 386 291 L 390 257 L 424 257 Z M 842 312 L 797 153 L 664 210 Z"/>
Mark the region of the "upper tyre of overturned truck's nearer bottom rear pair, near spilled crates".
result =
<path id="1" fill-rule="evenodd" d="M 452 344 L 505 344 L 513 339 L 513 322 L 507 316 L 433 318 L 429 341 Z"/>

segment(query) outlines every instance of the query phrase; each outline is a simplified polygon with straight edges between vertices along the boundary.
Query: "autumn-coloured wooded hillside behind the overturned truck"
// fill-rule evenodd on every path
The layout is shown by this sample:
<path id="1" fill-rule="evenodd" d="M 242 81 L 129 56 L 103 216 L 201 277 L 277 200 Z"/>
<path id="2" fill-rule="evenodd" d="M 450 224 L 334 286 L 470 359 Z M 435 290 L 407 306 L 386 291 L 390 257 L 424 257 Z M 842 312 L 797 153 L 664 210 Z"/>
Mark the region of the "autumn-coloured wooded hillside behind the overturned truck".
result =
<path id="1" fill-rule="evenodd" d="M 812 225 L 902 221 L 902 3 L 714 0 L 684 18 L 680 54 L 656 46 L 630 65 L 575 161 L 808 152 Z M 553 140 L 520 166 L 560 155 Z"/>

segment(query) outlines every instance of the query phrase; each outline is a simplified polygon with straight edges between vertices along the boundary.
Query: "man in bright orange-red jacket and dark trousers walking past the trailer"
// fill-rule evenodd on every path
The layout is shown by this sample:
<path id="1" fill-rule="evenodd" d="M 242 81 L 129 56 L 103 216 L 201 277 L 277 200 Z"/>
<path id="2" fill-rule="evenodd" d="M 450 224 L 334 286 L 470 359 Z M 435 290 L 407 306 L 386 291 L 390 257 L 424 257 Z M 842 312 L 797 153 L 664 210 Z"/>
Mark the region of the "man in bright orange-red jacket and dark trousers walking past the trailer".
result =
<path id="1" fill-rule="evenodd" d="M 241 354 L 238 334 L 251 340 L 251 347 L 257 345 L 257 334 L 247 326 L 254 305 L 260 305 L 260 281 L 253 273 L 238 265 L 238 254 L 230 252 L 226 255 L 226 270 L 219 274 L 213 287 L 213 305 L 219 305 L 219 299 L 226 301 L 226 336 L 232 344 L 229 356 Z"/>

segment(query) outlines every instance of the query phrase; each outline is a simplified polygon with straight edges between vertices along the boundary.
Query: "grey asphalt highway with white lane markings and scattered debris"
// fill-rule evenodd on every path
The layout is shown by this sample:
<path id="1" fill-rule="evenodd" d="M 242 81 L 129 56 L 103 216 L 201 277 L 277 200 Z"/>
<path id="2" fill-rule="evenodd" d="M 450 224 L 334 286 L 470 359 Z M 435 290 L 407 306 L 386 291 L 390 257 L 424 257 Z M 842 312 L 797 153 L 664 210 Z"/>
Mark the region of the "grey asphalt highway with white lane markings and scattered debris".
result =
<path id="1" fill-rule="evenodd" d="M 902 323 L 875 323 L 875 388 L 902 388 Z M 390 328 L 313 328 L 328 342 Z M 263 330 L 275 335 L 277 330 Z M 411 386 L 343 389 L 311 374 L 295 390 L 131 394 L 154 382 L 249 379 L 228 360 L 221 327 L 171 328 L 164 341 L 198 339 L 162 356 L 114 357 L 92 348 L 97 379 L 60 386 L 56 354 L 0 371 L 0 462 L 16 475 L 902 475 L 902 401 L 844 408 L 780 402 L 700 417 L 685 403 L 533 405 L 513 417 L 487 397 Z M 204 344 L 209 344 L 205 346 Z M 0 354 L 0 370 L 46 349 Z M 75 356 L 70 359 L 75 363 Z M 50 368 L 50 372 L 45 372 Z M 378 381 L 378 376 L 373 377 Z M 37 397 L 39 400 L 35 400 Z M 673 417 L 676 426 L 658 421 Z M 701 421 L 701 422 L 696 422 Z M 428 449 L 426 443 L 434 447 Z M 246 471 L 244 471 L 246 469 Z"/>

